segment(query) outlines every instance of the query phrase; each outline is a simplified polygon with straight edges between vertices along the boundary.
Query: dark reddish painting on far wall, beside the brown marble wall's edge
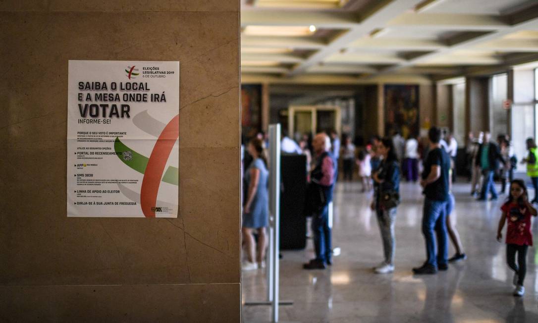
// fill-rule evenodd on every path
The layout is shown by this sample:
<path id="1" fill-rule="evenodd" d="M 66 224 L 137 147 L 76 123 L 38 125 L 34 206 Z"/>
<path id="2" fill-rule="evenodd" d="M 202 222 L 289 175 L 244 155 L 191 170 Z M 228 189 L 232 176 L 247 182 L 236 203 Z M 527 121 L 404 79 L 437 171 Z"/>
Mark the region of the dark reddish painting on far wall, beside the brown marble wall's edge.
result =
<path id="1" fill-rule="evenodd" d="M 247 139 L 261 130 L 261 85 L 241 86 L 241 133 Z"/>

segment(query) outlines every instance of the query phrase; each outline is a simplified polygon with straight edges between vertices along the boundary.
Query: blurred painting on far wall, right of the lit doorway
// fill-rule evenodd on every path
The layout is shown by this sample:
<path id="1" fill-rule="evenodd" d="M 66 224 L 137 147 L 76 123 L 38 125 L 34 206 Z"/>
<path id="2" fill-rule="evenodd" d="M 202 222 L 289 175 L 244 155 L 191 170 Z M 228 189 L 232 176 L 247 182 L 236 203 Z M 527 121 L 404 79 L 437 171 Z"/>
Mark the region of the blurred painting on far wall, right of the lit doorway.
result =
<path id="1" fill-rule="evenodd" d="M 419 86 L 385 85 L 385 134 L 419 134 Z"/>

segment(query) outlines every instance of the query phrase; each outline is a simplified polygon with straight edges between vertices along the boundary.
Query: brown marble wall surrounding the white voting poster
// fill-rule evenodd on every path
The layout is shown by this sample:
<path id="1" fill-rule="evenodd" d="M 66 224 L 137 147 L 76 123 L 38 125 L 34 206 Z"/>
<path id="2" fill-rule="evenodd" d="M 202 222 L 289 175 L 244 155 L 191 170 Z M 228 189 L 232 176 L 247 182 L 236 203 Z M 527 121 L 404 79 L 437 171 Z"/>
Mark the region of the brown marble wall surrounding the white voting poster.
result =
<path id="1" fill-rule="evenodd" d="M 0 320 L 240 320 L 239 2 L 0 2 Z M 178 219 L 66 217 L 68 60 L 180 61 Z"/>

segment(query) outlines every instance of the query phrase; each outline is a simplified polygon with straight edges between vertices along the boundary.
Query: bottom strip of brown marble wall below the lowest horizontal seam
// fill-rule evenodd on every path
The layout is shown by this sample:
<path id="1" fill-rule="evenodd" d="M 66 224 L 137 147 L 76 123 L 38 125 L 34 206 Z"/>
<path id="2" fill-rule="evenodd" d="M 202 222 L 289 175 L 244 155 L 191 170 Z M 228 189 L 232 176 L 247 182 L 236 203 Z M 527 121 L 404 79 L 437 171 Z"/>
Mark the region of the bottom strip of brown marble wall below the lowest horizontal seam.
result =
<path id="1" fill-rule="evenodd" d="M 239 297 L 239 284 L 0 286 L 0 320 L 229 323 Z"/>

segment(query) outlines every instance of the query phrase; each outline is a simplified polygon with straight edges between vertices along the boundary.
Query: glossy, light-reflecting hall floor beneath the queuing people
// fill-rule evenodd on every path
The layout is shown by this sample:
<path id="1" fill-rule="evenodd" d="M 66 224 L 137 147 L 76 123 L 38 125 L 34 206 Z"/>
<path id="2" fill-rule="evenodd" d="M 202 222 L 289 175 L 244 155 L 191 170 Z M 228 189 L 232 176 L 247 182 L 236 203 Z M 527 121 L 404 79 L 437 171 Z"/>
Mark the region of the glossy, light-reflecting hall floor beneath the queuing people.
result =
<path id="1" fill-rule="evenodd" d="M 300 322 L 538 322 L 538 252 L 529 248 L 526 294 L 512 296 L 512 276 L 506 247 L 495 240 L 498 201 L 476 202 L 468 184 L 455 184 L 457 228 L 468 259 L 433 276 L 413 276 L 411 268 L 425 259 L 420 230 L 422 196 L 418 185 L 401 186 L 402 203 L 396 222 L 395 271 L 376 275 L 372 266 L 382 259 L 377 222 L 369 209 L 370 194 L 356 182 L 339 183 L 335 194 L 333 247 L 341 248 L 332 267 L 307 271 L 302 263 L 313 257 L 306 250 L 282 251 L 281 321 Z M 533 235 L 538 243 L 538 221 Z M 450 245 L 449 256 L 454 254 Z M 243 302 L 266 298 L 264 270 L 243 272 Z M 270 306 L 243 306 L 245 322 L 270 321 Z"/>

